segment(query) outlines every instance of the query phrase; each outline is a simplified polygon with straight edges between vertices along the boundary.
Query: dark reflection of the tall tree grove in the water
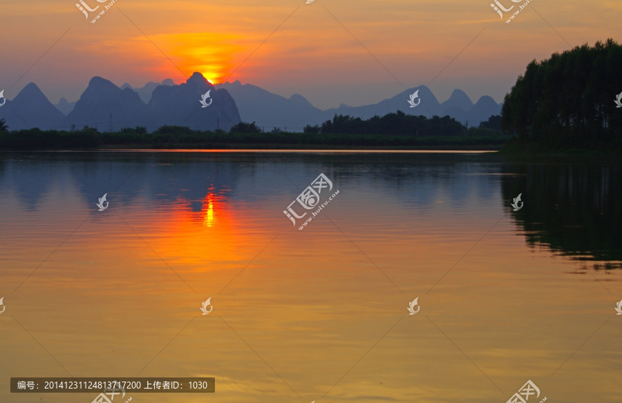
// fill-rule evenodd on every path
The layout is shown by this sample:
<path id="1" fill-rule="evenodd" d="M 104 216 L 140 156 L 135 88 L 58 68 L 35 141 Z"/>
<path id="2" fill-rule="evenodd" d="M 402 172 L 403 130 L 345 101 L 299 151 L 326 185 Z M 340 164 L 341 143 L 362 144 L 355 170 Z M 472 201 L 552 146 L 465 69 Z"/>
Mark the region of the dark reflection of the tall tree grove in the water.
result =
<path id="1" fill-rule="evenodd" d="M 513 214 L 531 248 L 584 262 L 585 268 L 622 268 L 622 170 L 619 163 L 558 161 L 502 164 L 504 200 L 522 193 Z"/>

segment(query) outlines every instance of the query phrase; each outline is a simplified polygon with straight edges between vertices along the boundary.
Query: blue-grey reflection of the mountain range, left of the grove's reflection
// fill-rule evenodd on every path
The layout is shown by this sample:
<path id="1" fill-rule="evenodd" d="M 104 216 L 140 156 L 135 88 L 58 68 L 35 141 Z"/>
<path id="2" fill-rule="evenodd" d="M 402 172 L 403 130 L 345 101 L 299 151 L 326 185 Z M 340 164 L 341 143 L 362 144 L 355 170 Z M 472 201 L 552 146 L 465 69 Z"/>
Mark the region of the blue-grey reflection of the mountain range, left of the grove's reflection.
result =
<path id="1" fill-rule="evenodd" d="M 427 206 L 433 204 L 431 190 L 438 181 L 460 185 L 462 175 L 488 171 L 478 159 L 482 155 L 42 153 L 0 159 L 0 180 L 31 209 L 50 187 L 62 184 L 77 186 L 87 204 L 120 189 L 124 199 L 140 195 L 156 205 L 185 200 L 191 210 L 201 211 L 209 204 L 210 194 L 253 202 L 277 187 L 303 188 L 310 176 L 323 171 L 329 177 L 369 184 L 378 192 L 395 192 L 395 197 L 415 198 L 417 206 Z M 265 175 L 267 170 L 272 175 Z M 263 175 L 256 175 L 260 171 Z M 241 176 L 262 183 L 251 193 L 236 193 Z M 455 206 L 472 193 L 491 199 L 493 186 L 489 178 L 471 178 L 469 186 L 451 186 L 451 199 Z"/>

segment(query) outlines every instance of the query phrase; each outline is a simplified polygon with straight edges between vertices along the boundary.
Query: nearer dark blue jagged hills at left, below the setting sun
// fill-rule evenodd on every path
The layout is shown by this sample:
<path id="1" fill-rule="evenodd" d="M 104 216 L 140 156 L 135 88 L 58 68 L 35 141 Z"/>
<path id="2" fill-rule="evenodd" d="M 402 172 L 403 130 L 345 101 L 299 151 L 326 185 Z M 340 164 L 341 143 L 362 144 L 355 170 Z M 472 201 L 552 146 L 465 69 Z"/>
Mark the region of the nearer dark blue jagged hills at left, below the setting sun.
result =
<path id="1" fill-rule="evenodd" d="M 93 77 L 77 101 L 69 103 L 62 98 L 54 106 L 35 83 L 29 83 L 15 99 L 7 100 L 0 108 L 0 118 L 6 119 L 9 130 L 35 127 L 69 130 L 75 125 L 77 129 L 89 126 L 102 132 L 108 131 L 111 123 L 113 131 L 135 126 L 153 131 L 164 125 L 229 130 L 241 121 L 229 92 L 215 90 L 198 72 L 179 85 L 167 79 L 160 84 L 147 83 L 138 90 L 128 84 L 122 87 L 102 77 Z M 148 103 L 137 91 L 149 99 Z M 207 91 L 211 92 L 211 104 L 202 108 L 200 99 Z M 61 110 L 66 111 L 66 115 Z"/>

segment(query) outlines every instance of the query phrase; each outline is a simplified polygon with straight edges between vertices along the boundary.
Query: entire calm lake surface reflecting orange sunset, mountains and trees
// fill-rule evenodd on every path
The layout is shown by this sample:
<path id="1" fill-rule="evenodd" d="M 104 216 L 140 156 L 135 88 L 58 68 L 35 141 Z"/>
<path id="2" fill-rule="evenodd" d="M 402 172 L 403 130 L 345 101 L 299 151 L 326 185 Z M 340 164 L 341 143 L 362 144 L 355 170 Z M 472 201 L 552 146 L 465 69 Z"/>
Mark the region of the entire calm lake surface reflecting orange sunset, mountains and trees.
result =
<path id="1" fill-rule="evenodd" d="M 298 230 L 283 210 L 320 173 L 339 195 Z M 19 376 L 216 378 L 133 403 L 503 403 L 527 380 L 529 402 L 621 402 L 621 176 L 478 153 L 2 154 L 0 402 L 96 395 L 11 394 Z"/>

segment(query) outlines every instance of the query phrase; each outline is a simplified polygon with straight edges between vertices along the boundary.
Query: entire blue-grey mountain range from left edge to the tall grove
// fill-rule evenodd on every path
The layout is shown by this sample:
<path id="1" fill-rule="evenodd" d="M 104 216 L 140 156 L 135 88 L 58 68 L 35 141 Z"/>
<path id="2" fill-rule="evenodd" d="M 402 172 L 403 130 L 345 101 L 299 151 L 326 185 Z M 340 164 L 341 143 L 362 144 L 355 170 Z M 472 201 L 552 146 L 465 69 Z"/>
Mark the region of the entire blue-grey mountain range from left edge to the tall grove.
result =
<path id="1" fill-rule="evenodd" d="M 408 99 L 419 91 L 420 104 L 410 108 Z M 199 100 L 210 91 L 212 104 L 202 108 Z M 366 106 L 347 106 L 321 110 L 302 95 L 290 98 L 273 94 L 252 84 L 228 81 L 212 85 L 199 72 L 185 83 L 171 79 L 161 83 L 149 82 L 142 88 L 121 87 L 102 77 L 93 77 L 86 90 L 75 102 L 60 99 L 53 105 L 35 83 L 24 87 L 15 99 L 7 100 L 0 108 L 0 118 L 6 119 L 10 130 L 40 128 L 41 130 L 70 130 L 89 126 L 100 131 L 144 126 L 149 131 L 164 125 L 189 126 L 195 130 L 229 130 L 241 121 L 255 122 L 260 128 L 274 127 L 301 131 L 308 124 L 321 124 L 337 115 L 369 119 L 402 110 L 409 115 L 426 117 L 446 116 L 469 126 L 477 126 L 492 115 L 498 115 L 501 104 L 488 96 L 476 104 L 462 90 L 453 90 L 451 97 L 439 103 L 429 88 L 418 86 L 404 90 L 390 99 Z"/>

